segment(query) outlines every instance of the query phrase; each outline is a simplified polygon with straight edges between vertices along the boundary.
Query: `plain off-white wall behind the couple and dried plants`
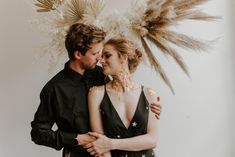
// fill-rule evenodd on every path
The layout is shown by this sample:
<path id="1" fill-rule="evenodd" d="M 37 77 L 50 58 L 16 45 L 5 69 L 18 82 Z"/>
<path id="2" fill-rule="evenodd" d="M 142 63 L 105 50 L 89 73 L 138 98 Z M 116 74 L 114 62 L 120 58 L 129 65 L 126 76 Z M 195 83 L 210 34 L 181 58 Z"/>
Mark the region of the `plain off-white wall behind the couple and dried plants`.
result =
<path id="1" fill-rule="evenodd" d="M 121 8 L 130 0 L 108 1 Z M 45 37 L 30 24 L 32 1 L 0 1 L 0 156 L 61 156 L 61 152 L 35 145 L 30 121 L 39 103 L 39 92 L 57 70 L 48 74 L 48 59 L 38 45 Z M 114 4 L 116 3 L 116 4 Z M 212 40 L 220 37 L 209 53 L 182 51 L 191 72 L 187 78 L 171 59 L 162 58 L 176 95 L 141 66 L 136 79 L 161 95 L 161 157 L 234 157 L 235 126 L 235 2 L 213 0 L 203 7 L 222 16 L 218 22 L 187 22 L 177 30 Z M 109 9 L 107 9 L 109 10 Z"/>

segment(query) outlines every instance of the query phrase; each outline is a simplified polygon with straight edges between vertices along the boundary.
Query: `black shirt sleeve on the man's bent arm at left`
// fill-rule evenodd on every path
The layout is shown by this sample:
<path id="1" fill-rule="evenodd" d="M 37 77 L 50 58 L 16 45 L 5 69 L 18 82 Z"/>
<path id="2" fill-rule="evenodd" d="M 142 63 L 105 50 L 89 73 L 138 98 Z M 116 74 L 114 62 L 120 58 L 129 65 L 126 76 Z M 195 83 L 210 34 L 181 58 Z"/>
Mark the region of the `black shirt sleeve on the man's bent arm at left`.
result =
<path id="1" fill-rule="evenodd" d="M 36 144 L 61 150 L 64 146 L 74 146 L 76 133 L 52 130 L 55 123 L 55 94 L 45 86 L 40 93 L 40 104 L 31 122 L 31 138 Z"/>

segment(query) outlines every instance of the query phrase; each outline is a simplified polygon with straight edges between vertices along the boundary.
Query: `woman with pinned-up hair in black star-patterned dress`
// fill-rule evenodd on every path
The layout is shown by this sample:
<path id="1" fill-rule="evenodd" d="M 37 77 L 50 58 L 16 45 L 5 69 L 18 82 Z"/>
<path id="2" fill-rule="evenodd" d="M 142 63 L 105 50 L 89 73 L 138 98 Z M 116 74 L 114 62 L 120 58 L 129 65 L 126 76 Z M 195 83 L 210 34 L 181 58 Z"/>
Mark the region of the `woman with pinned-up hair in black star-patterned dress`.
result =
<path id="1" fill-rule="evenodd" d="M 159 120 L 149 112 L 149 104 L 156 103 L 156 94 L 135 82 L 132 74 L 142 54 L 124 36 L 110 39 L 104 46 L 102 66 L 112 81 L 94 87 L 88 94 L 91 129 L 105 134 L 111 143 L 112 157 L 154 156 L 158 142 Z M 97 154 L 97 148 L 90 148 Z"/>

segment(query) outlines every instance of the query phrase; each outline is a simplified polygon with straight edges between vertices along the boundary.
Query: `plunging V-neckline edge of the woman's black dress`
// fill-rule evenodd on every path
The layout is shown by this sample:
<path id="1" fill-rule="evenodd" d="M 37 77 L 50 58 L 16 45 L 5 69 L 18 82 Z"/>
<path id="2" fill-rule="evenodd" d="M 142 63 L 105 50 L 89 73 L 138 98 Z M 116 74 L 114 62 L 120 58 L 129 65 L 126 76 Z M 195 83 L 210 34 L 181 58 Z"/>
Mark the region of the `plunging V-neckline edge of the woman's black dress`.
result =
<path id="1" fill-rule="evenodd" d="M 110 99 L 110 97 L 109 97 L 109 95 L 108 95 L 107 90 L 106 90 L 106 86 L 105 86 L 105 94 L 106 94 L 106 96 L 107 96 L 107 98 L 108 98 L 108 101 L 109 101 L 111 107 L 113 108 L 113 110 L 114 110 L 114 112 L 115 112 L 117 118 L 119 119 L 120 123 L 121 123 L 122 126 L 128 131 L 128 130 L 131 128 L 132 123 L 134 123 L 133 120 L 134 120 L 134 118 L 135 118 L 135 116 L 136 116 L 136 114 L 137 114 L 137 111 L 138 111 L 138 108 L 139 108 L 139 105 L 140 105 L 140 100 L 141 100 L 141 97 L 142 97 L 142 95 L 143 95 L 143 87 L 141 86 L 141 92 L 140 92 L 139 100 L 138 100 L 138 102 L 137 102 L 137 105 L 136 105 L 136 108 L 135 108 L 135 112 L 134 112 L 134 114 L 133 114 L 133 116 L 132 116 L 132 118 L 131 118 L 131 121 L 130 121 L 129 126 L 126 126 L 126 125 L 123 123 L 123 121 L 122 121 L 122 119 L 121 119 L 121 117 L 120 117 L 118 111 L 117 111 L 116 108 L 113 106 L 113 103 L 112 103 L 112 101 L 111 101 L 111 99 Z"/>

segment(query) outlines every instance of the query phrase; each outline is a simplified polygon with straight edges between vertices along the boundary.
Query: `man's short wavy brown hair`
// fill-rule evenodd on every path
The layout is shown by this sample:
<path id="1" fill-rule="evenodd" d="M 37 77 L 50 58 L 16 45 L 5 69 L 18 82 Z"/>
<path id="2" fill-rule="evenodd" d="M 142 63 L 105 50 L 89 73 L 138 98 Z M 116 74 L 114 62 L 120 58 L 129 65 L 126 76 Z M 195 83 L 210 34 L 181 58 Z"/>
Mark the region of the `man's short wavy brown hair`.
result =
<path id="1" fill-rule="evenodd" d="M 104 40 L 106 33 L 93 25 L 82 23 L 73 24 L 67 32 L 65 47 L 70 60 L 74 60 L 74 52 L 79 51 L 82 55 L 91 48 L 92 44 L 100 43 Z"/>

